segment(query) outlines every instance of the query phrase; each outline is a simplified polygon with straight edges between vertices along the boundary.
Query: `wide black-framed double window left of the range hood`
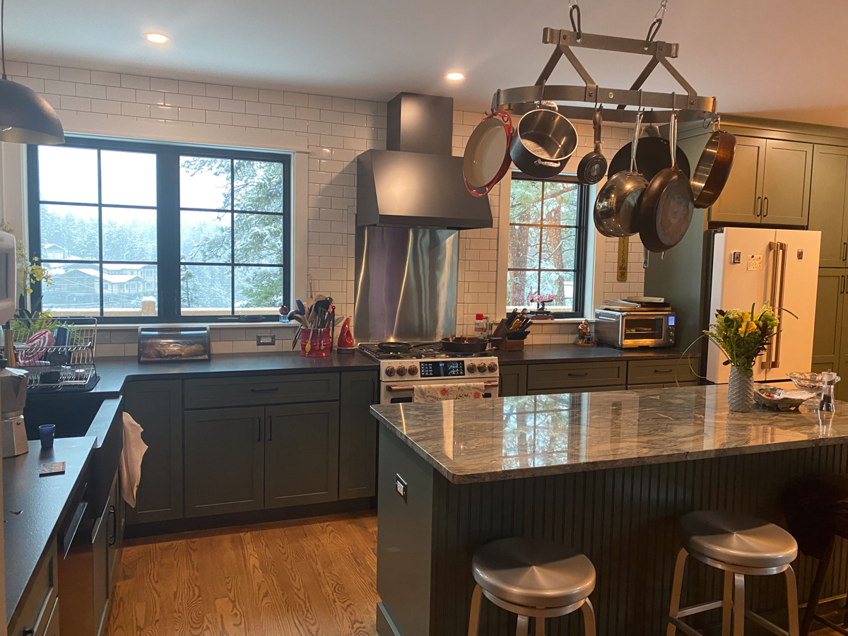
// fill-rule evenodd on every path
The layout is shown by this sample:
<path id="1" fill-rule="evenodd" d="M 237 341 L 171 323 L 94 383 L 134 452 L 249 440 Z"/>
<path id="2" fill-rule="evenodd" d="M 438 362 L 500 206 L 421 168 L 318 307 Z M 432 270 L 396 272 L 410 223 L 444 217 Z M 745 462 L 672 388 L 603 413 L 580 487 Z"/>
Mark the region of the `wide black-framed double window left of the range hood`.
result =
<path id="1" fill-rule="evenodd" d="M 67 138 L 28 148 L 31 255 L 54 315 L 276 315 L 290 277 L 290 158 Z"/>

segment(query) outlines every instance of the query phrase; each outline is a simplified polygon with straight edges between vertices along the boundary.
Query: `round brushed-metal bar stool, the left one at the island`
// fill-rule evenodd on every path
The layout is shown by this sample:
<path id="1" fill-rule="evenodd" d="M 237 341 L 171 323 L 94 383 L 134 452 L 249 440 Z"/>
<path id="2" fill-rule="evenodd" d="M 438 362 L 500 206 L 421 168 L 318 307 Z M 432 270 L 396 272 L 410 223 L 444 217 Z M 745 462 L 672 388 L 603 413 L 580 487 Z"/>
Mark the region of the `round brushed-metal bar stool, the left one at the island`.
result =
<path id="1" fill-rule="evenodd" d="M 477 585 L 471 595 L 468 636 L 477 636 L 483 596 L 518 615 L 516 636 L 527 636 L 529 617 L 536 636 L 544 619 L 583 610 L 583 633 L 594 636 L 592 561 L 565 545 L 532 538 L 501 538 L 485 544 L 471 561 Z"/>

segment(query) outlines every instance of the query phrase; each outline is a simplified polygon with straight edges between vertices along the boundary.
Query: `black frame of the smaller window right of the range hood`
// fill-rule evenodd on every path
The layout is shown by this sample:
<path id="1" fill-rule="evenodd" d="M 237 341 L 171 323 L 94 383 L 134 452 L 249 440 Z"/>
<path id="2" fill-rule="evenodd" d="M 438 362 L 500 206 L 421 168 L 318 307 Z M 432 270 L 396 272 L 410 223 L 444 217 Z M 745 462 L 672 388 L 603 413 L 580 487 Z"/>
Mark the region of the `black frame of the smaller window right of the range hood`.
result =
<path id="1" fill-rule="evenodd" d="M 573 227 L 576 232 L 576 244 L 575 244 L 575 252 L 574 252 L 574 270 L 545 270 L 541 267 L 541 248 L 539 249 L 539 268 L 535 271 L 573 271 L 574 272 L 574 310 L 573 311 L 560 311 L 553 310 L 556 312 L 558 318 L 569 319 L 569 318 L 585 318 L 586 317 L 586 271 L 587 271 L 587 253 L 588 253 L 588 243 L 589 243 L 589 188 L 584 183 L 580 183 L 577 181 L 577 176 L 574 175 L 558 175 L 551 177 L 550 179 L 537 179 L 533 176 L 529 176 L 520 171 L 513 171 L 511 176 L 511 181 L 538 181 L 540 183 L 547 183 L 551 181 L 561 182 L 561 183 L 573 183 L 577 186 L 577 225 L 575 226 L 549 226 L 549 227 Z M 543 190 L 544 192 L 544 190 Z M 544 199 L 543 199 L 544 200 Z M 511 203 L 510 203 L 511 208 Z M 543 204 L 544 209 L 544 204 Z M 535 223 L 513 223 L 510 219 L 510 216 L 507 216 L 507 222 L 510 227 L 514 225 L 520 226 L 533 226 L 544 228 L 544 212 L 541 220 L 538 224 Z M 542 240 L 543 233 L 539 232 L 539 241 Z M 507 235 L 507 241 L 509 242 L 509 234 Z M 541 247 L 541 246 L 540 246 Z M 528 270 L 525 267 L 510 267 L 510 247 L 509 243 L 506 245 L 506 276 L 510 276 L 510 271 L 533 271 Z M 507 282 L 509 285 L 509 282 Z M 508 300 L 507 300 L 508 302 Z M 534 309 L 532 307 L 532 303 L 527 303 L 525 306 Z M 510 310 L 514 305 L 508 304 L 506 309 Z"/>

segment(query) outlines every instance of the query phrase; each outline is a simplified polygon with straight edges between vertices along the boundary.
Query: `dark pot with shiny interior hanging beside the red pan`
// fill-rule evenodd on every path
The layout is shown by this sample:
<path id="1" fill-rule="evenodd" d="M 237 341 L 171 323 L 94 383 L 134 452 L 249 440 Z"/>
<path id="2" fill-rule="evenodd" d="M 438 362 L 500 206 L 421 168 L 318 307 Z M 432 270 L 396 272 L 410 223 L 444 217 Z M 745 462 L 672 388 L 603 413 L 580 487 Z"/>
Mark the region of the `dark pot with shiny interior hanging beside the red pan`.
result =
<path id="1" fill-rule="evenodd" d="M 577 129 L 556 110 L 556 104 L 542 108 L 544 84 L 539 90 L 539 108 L 518 122 L 510 142 L 510 157 L 525 175 L 550 179 L 562 172 L 577 148 Z"/>

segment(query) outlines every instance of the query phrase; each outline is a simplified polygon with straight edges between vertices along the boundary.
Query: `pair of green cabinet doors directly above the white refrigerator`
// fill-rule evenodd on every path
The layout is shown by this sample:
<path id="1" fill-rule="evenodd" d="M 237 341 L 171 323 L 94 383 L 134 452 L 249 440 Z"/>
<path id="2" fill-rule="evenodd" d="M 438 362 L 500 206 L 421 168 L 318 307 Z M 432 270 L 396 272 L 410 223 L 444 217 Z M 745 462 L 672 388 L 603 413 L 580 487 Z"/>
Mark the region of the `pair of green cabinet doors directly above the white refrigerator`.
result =
<path id="1" fill-rule="evenodd" d="M 812 152 L 812 143 L 736 137 L 733 170 L 710 220 L 806 226 Z"/>

